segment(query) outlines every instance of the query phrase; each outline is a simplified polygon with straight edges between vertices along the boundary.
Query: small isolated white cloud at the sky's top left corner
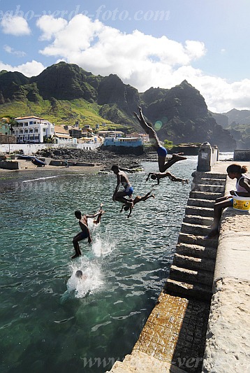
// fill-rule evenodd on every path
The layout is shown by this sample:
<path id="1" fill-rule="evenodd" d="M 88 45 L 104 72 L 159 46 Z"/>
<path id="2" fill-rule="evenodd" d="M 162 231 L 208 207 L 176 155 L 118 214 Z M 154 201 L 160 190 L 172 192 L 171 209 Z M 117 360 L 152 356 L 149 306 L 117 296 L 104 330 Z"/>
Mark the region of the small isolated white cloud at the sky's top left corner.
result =
<path id="1" fill-rule="evenodd" d="M 17 15 L 4 15 L 1 20 L 3 34 L 22 36 L 31 34 L 27 20 Z"/>

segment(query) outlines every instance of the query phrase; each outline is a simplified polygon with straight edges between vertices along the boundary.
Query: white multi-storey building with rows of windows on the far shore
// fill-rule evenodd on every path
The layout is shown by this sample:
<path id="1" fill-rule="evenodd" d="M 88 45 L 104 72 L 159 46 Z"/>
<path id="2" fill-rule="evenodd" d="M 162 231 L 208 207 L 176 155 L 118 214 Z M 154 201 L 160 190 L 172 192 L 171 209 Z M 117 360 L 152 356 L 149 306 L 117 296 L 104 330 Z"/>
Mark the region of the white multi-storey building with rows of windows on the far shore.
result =
<path id="1" fill-rule="evenodd" d="M 45 137 L 54 136 L 54 124 L 43 118 L 27 116 L 15 121 L 18 125 L 13 127 L 13 133 L 17 143 L 43 143 Z"/>

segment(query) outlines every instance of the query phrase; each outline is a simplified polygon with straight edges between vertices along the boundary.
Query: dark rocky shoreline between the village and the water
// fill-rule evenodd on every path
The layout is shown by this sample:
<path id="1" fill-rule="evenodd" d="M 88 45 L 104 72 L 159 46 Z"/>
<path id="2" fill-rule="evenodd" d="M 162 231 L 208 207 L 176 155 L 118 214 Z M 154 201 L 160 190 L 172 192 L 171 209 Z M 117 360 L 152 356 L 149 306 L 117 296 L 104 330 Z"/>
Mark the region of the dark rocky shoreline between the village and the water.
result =
<path id="1" fill-rule="evenodd" d="M 127 169 L 140 169 L 142 162 L 156 161 L 156 152 L 143 153 L 142 155 L 133 154 L 115 154 L 108 150 L 81 150 L 81 149 L 44 149 L 36 153 L 37 157 L 52 158 L 52 160 L 73 160 L 78 162 L 88 162 L 103 164 L 103 171 L 111 169 L 112 164 L 118 164 L 119 167 Z"/>

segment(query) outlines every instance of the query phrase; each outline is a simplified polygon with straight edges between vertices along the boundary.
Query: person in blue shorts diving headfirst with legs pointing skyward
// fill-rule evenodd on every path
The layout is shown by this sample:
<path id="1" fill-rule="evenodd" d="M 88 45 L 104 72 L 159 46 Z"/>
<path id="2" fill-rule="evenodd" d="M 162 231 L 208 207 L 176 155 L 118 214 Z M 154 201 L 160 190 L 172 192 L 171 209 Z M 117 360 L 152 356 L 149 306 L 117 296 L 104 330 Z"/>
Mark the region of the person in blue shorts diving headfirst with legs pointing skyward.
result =
<path id="1" fill-rule="evenodd" d="M 170 160 L 166 162 L 166 156 L 168 154 L 168 150 L 164 148 L 164 146 L 161 146 L 161 143 L 158 139 L 158 136 L 152 127 L 152 125 L 148 124 L 145 121 L 144 116 L 142 115 L 142 108 L 138 106 L 139 109 L 139 115 L 138 113 L 133 113 L 135 115 L 135 118 L 138 119 L 138 122 L 142 126 L 142 129 L 145 130 L 146 134 L 149 135 L 149 139 L 152 141 L 153 146 L 158 154 L 158 164 L 159 164 L 159 171 L 165 172 L 169 167 L 172 166 L 172 164 L 175 164 L 175 162 L 178 162 L 179 160 L 186 160 L 186 157 L 182 157 L 183 153 L 177 153 L 173 154 Z"/>

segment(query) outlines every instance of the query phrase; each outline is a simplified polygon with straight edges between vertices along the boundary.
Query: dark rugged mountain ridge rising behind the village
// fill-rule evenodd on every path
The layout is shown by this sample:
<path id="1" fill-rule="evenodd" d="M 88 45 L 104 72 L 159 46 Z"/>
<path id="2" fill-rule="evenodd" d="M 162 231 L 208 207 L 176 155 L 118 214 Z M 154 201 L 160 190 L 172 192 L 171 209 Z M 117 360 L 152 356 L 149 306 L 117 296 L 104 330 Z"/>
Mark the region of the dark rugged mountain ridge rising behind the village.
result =
<path id="1" fill-rule="evenodd" d="M 32 78 L 17 72 L 0 72 L 0 115 L 3 112 L 8 114 L 10 104 L 15 106 L 17 101 L 22 101 L 23 107 L 27 107 L 26 115 L 54 113 L 57 118 L 62 115 L 59 106 L 63 100 L 68 103 L 68 118 L 64 111 L 64 122 L 79 120 L 81 123 L 84 117 L 73 108 L 71 102 L 74 99 L 86 101 L 103 120 L 122 124 L 127 128 L 126 132 L 140 131 L 133 116 L 133 111 L 140 105 L 161 140 L 174 143 L 209 141 L 218 145 L 220 150 L 235 148 L 233 136 L 216 123 L 207 111 L 205 99 L 186 80 L 170 90 L 150 88 L 139 93 L 114 74 L 94 76 L 78 65 L 65 62 L 54 64 Z M 39 103 L 45 100 L 50 101 L 50 106 L 43 105 L 43 110 L 39 111 Z M 30 113 L 34 108 L 31 103 L 36 103 L 36 113 Z M 20 116 L 20 113 L 15 113 L 15 116 Z"/>

